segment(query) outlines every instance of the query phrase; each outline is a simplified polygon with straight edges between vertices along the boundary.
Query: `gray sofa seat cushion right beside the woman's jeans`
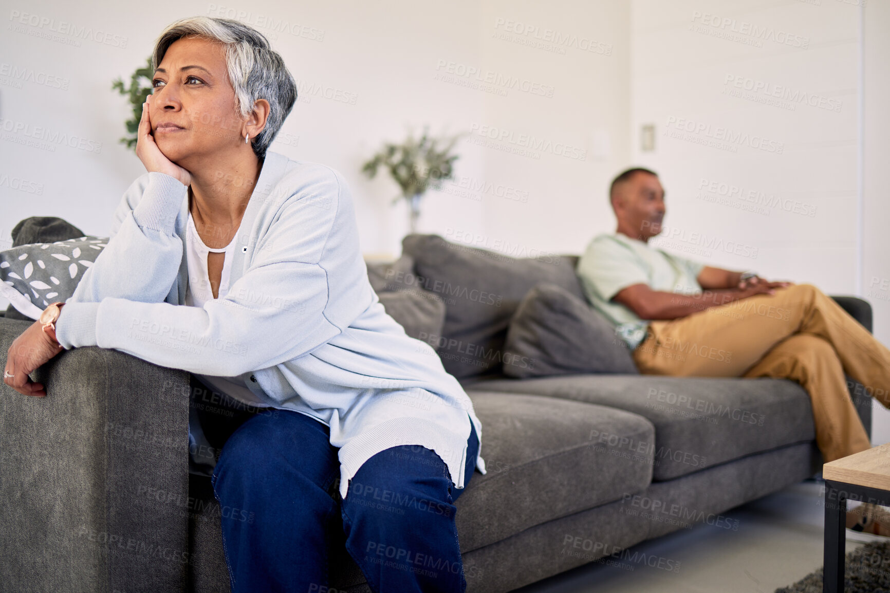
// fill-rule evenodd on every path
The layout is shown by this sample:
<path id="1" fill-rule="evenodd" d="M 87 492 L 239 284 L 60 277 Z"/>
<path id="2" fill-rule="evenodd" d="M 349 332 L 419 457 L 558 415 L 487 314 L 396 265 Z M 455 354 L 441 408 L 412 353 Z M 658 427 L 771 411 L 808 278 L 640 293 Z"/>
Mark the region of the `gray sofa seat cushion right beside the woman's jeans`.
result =
<path id="1" fill-rule="evenodd" d="M 455 505 L 461 551 L 620 500 L 651 482 L 651 423 L 624 410 L 538 395 L 467 392 L 486 474 Z"/>

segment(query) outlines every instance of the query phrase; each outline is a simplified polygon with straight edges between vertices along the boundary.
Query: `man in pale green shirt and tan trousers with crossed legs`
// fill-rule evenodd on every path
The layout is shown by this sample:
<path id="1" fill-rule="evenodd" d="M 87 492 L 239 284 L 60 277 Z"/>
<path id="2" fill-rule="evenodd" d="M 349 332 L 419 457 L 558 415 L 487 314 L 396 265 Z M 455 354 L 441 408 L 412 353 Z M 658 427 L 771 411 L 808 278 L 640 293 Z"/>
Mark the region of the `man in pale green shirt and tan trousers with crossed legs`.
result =
<path id="1" fill-rule="evenodd" d="M 577 268 L 587 300 L 615 325 L 640 372 L 792 379 L 810 394 L 826 462 L 869 449 L 845 373 L 890 407 L 890 350 L 812 284 L 768 281 L 652 248 L 664 196 L 648 169 L 616 177 L 610 199 L 618 229 L 595 237 Z M 848 526 L 860 519 L 860 531 L 890 533 L 890 522 L 875 520 L 878 508 L 857 509 Z"/>

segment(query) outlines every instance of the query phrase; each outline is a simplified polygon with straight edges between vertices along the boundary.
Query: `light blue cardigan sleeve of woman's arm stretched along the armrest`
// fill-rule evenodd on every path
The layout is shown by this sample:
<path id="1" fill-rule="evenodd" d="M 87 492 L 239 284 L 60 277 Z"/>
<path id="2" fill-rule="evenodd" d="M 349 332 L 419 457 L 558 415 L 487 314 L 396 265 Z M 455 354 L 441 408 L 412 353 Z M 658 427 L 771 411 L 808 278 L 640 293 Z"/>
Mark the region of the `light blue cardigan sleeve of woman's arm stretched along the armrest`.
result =
<path id="1" fill-rule="evenodd" d="M 324 314 L 327 304 L 328 274 L 320 265 L 281 262 L 251 270 L 203 307 L 111 296 L 66 305 L 56 336 L 66 348 L 98 345 L 160 366 L 234 377 L 310 353 L 339 334 Z"/>

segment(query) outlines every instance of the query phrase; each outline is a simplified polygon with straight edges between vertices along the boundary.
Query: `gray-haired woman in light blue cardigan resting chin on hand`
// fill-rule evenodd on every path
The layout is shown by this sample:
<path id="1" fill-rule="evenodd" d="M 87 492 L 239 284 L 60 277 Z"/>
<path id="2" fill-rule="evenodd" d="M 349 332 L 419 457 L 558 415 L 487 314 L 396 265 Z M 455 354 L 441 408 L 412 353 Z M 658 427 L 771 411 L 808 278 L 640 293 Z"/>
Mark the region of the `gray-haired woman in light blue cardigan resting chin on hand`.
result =
<path id="1" fill-rule="evenodd" d="M 195 17 L 158 37 L 153 66 L 148 172 L 4 381 L 45 396 L 29 372 L 99 345 L 278 412 L 241 424 L 213 468 L 220 504 L 253 514 L 223 519 L 233 593 L 325 590 L 344 546 L 374 591 L 465 590 L 453 502 L 484 473 L 479 420 L 370 287 L 344 177 L 268 151 L 296 98 L 284 62 L 255 29 Z"/>

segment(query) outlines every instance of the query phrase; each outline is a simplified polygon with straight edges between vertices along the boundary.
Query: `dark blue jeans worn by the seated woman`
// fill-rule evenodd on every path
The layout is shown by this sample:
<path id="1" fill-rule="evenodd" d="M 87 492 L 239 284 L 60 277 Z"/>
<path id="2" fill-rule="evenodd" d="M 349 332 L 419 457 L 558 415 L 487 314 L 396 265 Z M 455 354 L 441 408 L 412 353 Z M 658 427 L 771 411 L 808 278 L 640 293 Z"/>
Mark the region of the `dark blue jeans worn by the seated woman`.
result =
<path id="1" fill-rule="evenodd" d="M 343 500 L 328 426 L 277 411 L 232 433 L 211 478 L 232 593 L 328 591 L 332 560 L 344 549 L 375 593 L 465 591 L 453 504 L 463 490 L 434 451 L 377 453 Z M 479 451 L 475 428 L 467 444 L 465 484 Z"/>

